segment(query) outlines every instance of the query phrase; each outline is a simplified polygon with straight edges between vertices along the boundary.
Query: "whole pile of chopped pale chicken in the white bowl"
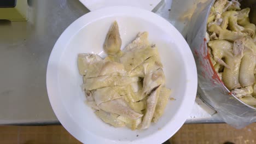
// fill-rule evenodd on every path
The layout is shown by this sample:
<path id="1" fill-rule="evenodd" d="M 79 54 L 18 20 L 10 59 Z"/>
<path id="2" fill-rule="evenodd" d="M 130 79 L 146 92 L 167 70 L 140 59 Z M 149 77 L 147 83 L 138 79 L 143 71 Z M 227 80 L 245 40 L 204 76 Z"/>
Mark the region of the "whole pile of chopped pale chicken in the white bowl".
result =
<path id="1" fill-rule="evenodd" d="M 121 43 L 115 21 L 103 44 L 105 58 L 78 55 L 85 103 L 113 127 L 147 129 L 162 116 L 170 95 L 158 47 L 149 43 L 148 32 L 138 33 L 123 51 Z"/>

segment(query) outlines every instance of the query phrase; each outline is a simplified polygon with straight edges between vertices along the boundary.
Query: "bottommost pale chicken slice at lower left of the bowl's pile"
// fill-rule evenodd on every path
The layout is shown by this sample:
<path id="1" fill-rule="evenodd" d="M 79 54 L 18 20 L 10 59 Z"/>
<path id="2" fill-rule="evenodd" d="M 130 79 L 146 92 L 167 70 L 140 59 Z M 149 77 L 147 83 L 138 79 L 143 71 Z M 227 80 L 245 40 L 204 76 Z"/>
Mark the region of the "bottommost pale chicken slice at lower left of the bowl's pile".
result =
<path id="1" fill-rule="evenodd" d="M 95 114 L 102 119 L 105 123 L 111 124 L 114 127 L 124 127 L 125 123 L 118 119 L 118 115 L 114 113 L 109 113 L 106 111 L 95 111 Z"/>

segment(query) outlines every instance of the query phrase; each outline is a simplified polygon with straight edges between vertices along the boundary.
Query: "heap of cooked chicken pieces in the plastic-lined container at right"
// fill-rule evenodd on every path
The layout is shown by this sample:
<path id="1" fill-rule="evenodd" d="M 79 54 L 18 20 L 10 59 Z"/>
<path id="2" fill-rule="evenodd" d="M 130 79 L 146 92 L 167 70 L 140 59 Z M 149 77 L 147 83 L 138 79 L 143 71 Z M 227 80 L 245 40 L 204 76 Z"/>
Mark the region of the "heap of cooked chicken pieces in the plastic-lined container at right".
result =
<path id="1" fill-rule="evenodd" d="M 207 46 L 226 88 L 256 107 L 256 26 L 249 20 L 251 9 L 241 10 L 240 5 L 237 0 L 214 3 L 207 20 Z"/>

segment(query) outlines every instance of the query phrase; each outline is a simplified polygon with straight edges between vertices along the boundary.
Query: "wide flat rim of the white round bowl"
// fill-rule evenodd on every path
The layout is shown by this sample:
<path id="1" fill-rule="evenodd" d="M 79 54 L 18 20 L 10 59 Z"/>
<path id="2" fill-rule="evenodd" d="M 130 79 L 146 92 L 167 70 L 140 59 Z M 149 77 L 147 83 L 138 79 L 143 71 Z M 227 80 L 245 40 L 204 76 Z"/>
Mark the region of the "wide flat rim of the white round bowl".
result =
<path id="1" fill-rule="evenodd" d="M 73 123 L 73 119 L 69 117 L 68 112 L 63 109 L 63 105 L 61 101 L 55 96 L 58 95 L 60 89 L 56 90 L 58 85 L 57 82 L 57 74 L 58 70 L 57 65 L 53 65 L 59 63 L 61 59 L 61 53 L 65 51 L 66 46 L 69 43 L 77 32 L 80 29 L 89 25 L 91 22 L 102 19 L 102 17 L 108 17 L 115 14 L 115 16 L 136 16 L 140 19 L 154 20 L 158 22 L 158 25 L 164 29 L 172 29 L 172 33 L 176 35 L 177 39 L 181 40 L 181 44 L 184 49 L 181 50 L 181 59 L 184 59 L 184 68 L 185 68 L 185 76 L 188 79 L 186 86 L 184 86 L 184 99 L 179 107 L 177 107 L 177 112 L 175 114 L 175 119 L 177 119 L 177 124 L 167 123 L 165 127 L 161 128 L 158 133 L 154 133 L 148 137 L 143 137 L 142 139 L 138 139 L 136 141 L 132 141 L 132 143 L 161 143 L 166 141 L 170 136 L 177 132 L 179 128 L 182 127 L 185 120 L 187 119 L 196 97 L 196 89 L 197 89 L 197 73 L 194 57 L 189 49 L 187 42 L 184 40 L 182 35 L 174 28 L 169 22 L 167 22 L 162 17 L 139 8 L 133 7 L 110 7 L 104 8 L 96 11 L 92 11 L 76 21 L 74 21 L 60 36 L 60 38 L 56 41 L 56 44 L 51 52 L 48 68 L 46 72 L 46 85 L 47 91 L 49 95 L 49 100 L 53 110 L 55 112 L 56 117 L 59 119 L 63 127 L 65 127 L 69 133 L 71 133 L 75 138 L 82 142 L 95 142 L 95 143 L 131 143 L 131 141 L 110 141 L 104 137 L 100 137 L 92 134 L 90 131 L 85 131 L 82 133 L 82 129 L 78 124 Z M 70 35 L 72 34 L 72 35 Z M 59 57 L 56 57 L 58 55 Z"/>

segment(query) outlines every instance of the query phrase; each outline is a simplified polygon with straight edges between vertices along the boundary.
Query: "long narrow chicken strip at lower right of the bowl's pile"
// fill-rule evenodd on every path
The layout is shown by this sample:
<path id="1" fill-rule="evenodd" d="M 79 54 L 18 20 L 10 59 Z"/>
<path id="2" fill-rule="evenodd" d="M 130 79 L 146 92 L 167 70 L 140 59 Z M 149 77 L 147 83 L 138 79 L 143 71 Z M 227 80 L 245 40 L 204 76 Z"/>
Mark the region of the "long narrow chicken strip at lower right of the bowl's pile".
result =
<path id="1" fill-rule="evenodd" d="M 154 116 L 155 107 L 158 103 L 158 97 L 161 91 L 161 85 L 155 89 L 154 92 L 152 92 L 149 97 L 147 98 L 147 109 L 146 113 L 144 114 L 144 117 L 142 119 L 141 124 L 138 125 L 139 129 L 147 129 L 152 121 L 152 118 Z"/>

